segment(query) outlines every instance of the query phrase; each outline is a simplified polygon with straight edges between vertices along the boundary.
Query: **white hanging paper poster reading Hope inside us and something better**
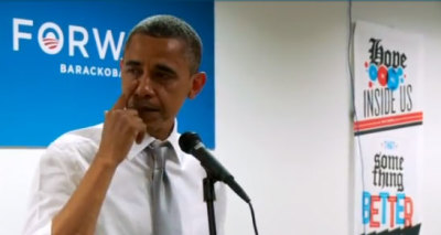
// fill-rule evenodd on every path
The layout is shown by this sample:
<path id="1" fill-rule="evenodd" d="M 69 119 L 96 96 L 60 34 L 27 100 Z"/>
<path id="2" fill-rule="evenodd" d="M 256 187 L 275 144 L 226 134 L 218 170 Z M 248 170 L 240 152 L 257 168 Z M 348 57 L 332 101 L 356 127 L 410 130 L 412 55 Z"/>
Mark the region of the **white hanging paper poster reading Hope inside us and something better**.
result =
<path id="1" fill-rule="evenodd" d="M 356 23 L 356 235 L 420 233 L 422 66 L 420 35 Z"/>

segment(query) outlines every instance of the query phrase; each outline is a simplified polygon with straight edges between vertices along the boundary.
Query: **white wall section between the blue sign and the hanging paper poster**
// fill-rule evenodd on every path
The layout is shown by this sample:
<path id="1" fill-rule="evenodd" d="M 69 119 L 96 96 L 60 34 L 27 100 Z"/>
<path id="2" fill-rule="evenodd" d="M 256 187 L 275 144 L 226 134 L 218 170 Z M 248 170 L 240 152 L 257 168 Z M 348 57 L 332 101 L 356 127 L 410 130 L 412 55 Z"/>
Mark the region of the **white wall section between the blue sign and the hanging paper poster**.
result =
<path id="1" fill-rule="evenodd" d="M 218 2 L 216 15 L 217 152 L 261 234 L 348 234 L 345 3 Z M 227 234 L 252 234 L 230 197 Z"/>

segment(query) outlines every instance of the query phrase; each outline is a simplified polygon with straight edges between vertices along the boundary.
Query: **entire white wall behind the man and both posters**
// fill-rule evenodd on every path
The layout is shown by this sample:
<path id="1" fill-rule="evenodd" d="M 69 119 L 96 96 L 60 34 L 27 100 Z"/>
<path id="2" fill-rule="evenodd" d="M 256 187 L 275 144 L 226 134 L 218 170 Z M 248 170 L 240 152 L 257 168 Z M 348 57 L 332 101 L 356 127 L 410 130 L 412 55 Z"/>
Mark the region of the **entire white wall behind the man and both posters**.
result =
<path id="1" fill-rule="evenodd" d="M 251 196 L 260 234 L 352 234 L 347 3 L 215 4 L 216 154 Z M 440 234 L 441 2 L 355 2 L 356 19 L 424 35 L 422 234 Z M 41 152 L 0 149 L 0 234 L 20 234 Z M 252 234 L 234 194 L 228 212 L 228 235 Z"/>

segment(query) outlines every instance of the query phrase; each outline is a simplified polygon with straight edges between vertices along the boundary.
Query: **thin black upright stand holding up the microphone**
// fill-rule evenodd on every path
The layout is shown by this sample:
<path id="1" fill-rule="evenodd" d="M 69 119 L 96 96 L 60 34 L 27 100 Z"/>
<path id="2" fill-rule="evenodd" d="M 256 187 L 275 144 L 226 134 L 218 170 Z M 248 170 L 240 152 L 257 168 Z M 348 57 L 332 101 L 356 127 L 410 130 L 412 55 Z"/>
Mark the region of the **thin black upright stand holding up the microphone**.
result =
<path id="1" fill-rule="evenodd" d="M 203 184 L 204 184 L 204 201 L 207 204 L 209 235 L 216 235 L 216 220 L 215 220 L 214 204 L 213 204 L 213 202 L 216 200 L 214 183 L 216 183 L 216 179 L 214 179 L 207 172 L 207 177 L 203 180 Z"/>

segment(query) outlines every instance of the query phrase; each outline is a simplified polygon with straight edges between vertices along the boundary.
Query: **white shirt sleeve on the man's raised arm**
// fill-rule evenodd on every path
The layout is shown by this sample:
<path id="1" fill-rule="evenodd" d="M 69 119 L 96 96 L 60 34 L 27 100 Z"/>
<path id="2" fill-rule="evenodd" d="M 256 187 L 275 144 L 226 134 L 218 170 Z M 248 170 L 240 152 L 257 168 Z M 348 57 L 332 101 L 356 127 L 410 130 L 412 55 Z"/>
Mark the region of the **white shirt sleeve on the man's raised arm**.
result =
<path id="1" fill-rule="evenodd" d="M 53 145 L 40 159 L 30 192 L 23 235 L 50 235 L 52 218 L 76 189 L 69 173 L 75 169 L 75 152 Z"/>

